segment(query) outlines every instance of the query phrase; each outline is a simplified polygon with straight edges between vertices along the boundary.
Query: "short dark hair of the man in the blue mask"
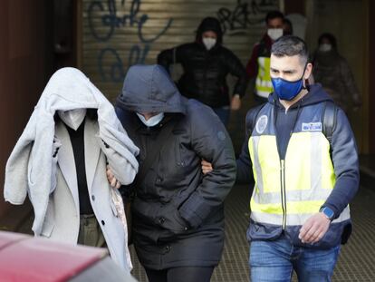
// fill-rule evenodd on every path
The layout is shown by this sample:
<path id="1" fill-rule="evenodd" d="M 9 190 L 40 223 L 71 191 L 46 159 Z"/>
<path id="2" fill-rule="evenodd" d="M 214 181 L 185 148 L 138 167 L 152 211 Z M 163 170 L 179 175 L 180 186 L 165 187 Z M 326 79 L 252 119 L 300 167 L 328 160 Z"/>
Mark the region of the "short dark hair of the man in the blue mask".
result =
<path id="1" fill-rule="evenodd" d="M 294 35 L 285 35 L 277 39 L 271 47 L 271 53 L 276 57 L 299 55 L 305 63 L 309 60 L 306 43 Z"/>

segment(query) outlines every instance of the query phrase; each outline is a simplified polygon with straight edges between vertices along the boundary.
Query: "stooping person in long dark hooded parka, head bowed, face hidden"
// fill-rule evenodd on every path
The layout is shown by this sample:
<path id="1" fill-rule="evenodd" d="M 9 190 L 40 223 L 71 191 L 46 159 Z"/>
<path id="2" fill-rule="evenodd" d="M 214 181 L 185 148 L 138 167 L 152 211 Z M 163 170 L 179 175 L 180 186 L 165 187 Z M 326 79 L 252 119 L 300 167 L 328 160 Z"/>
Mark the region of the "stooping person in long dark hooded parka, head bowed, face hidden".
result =
<path id="1" fill-rule="evenodd" d="M 181 96 L 159 65 L 130 67 L 115 108 L 140 149 L 139 174 L 124 189 L 135 194 L 132 237 L 149 281 L 209 281 L 223 251 L 223 201 L 236 179 L 224 125 Z M 215 168 L 206 175 L 203 158 Z"/>

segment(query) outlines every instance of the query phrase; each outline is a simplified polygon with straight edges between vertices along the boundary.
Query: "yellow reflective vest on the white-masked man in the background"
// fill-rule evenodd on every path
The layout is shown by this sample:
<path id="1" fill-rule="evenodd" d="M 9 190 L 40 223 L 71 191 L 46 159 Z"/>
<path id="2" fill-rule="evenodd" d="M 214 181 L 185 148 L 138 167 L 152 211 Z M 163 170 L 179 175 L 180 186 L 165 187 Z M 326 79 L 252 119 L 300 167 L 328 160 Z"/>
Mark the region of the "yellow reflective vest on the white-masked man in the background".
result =
<path id="1" fill-rule="evenodd" d="M 255 81 L 256 94 L 267 98 L 274 91 L 270 75 L 270 58 L 258 58 L 258 74 Z"/>

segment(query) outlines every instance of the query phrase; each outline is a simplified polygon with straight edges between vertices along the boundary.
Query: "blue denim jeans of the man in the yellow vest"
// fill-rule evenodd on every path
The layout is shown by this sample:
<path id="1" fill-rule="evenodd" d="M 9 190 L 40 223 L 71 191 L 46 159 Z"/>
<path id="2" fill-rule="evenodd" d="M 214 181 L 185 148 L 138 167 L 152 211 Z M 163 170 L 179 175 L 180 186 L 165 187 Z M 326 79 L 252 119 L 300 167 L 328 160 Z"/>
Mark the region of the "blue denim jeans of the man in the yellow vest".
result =
<path id="1" fill-rule="evenodd" d="M 282 236 L 274 241 L 253 241 L 250 246 L 251 281 L 331 281 L 341 246 L 328 249 L 294 247 Z"/>

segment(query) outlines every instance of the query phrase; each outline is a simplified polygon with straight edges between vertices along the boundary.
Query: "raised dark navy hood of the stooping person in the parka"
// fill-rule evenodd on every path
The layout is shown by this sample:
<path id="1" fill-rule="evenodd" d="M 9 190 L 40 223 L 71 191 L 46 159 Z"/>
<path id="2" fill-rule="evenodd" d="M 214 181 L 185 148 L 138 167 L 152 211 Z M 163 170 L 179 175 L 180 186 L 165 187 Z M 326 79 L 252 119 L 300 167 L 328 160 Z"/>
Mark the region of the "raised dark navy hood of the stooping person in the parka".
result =
<path id="1" fill-rule="evenodd" d="M 129 112 L 185 114 L 185 101 L 162 66 L 133 65 L 125 77 L 116 106 Z"/>

